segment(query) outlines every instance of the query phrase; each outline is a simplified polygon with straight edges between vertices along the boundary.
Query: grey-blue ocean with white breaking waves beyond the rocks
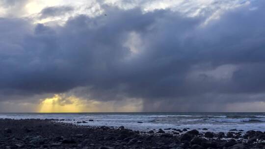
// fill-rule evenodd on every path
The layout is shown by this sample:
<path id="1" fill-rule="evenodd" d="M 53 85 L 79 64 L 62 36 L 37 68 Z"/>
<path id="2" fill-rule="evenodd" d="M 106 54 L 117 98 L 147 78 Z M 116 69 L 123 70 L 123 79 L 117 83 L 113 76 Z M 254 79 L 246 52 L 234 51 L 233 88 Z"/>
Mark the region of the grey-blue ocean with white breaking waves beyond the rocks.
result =
<path id="1" fill-rule="evenodd" d="M 148 131 L 159 128 L 207 128 L 212 132 L 230 129 L 265 131 L 265 113 L 0 113 L 0 119 L 65 119 L 63 123 L 92 126 L 123 125 Z M 89 122 L 89 120 L 94 120 Z M 142 123 L 139 123 L 142 122 Z"/>

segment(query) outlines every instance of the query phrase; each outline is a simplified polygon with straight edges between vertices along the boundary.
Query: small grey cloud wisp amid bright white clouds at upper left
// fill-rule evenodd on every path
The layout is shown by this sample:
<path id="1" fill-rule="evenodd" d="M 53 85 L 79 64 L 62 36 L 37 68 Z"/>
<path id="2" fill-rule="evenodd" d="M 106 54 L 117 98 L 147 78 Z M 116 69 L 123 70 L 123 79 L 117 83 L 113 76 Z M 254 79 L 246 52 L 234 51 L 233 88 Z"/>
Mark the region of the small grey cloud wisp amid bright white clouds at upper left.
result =
<path id="1" fill-rule="evenodd" d="M 47 7 L 42 9 L 40 12 L 40 18 L 48 18 L 48 17 L 54 17 L 54 16 L 60 16 L 64 15 L 66 13 L 69 13 L 73 11 L 74 9 L 70 6 L 53 6 L 53 7 Z"/>

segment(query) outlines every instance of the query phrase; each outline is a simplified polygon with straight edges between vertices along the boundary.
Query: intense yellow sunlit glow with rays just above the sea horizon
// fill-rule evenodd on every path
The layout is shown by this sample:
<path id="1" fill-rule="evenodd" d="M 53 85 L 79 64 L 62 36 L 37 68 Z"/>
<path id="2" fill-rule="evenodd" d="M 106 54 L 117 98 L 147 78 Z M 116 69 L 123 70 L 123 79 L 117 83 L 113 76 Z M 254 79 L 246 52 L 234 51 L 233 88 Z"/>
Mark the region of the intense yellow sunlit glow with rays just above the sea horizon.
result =
<path id="1" fill-rule="evenodd" d="M 64 98 L 62 95 L 57 94 L 55 94 L 52 98 L 43 99 L 39 104 L 39 112 L 41 113 L 63 113 L 82 111 L 83 106 L 78 98 Z"/>

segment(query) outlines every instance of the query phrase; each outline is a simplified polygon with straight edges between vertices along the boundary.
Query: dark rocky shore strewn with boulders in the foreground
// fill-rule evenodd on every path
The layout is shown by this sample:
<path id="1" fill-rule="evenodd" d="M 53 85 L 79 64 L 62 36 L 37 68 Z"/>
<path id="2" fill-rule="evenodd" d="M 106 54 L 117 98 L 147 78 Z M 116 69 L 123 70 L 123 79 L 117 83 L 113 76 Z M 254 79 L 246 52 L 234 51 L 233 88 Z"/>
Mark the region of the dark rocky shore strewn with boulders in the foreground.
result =
<path id="1" fill-rule="evenodd" d="M 139 132 L 124 126 L 0 119 L 0 149 L 265 149 L 265 132 L 231 130 L 225 134 L 200 130 L 207 128 Z"/>

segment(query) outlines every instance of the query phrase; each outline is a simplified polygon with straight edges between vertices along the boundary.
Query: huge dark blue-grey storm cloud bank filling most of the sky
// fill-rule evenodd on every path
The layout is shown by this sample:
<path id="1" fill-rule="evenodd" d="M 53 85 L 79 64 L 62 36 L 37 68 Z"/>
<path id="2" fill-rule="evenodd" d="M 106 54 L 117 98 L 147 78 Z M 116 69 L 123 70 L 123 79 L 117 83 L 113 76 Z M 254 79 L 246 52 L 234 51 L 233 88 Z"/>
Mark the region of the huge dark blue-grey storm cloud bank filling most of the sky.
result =
<path id="1" fill-rule="evenodd" d="M 264 101 L 250 98 L 265 91 L 264 6 L 241 6 L 207 25 L 207 16 L 110 6 L 103 6 L 107 16 L 80 15 L 64 26 L 31 29 L 27 21 L 0 19 L 0 90 L 29 96 L 85 87 L 75 94 L 139 98 L 146 111 L 211 111 L 205 105 Z M 65 12 L 49 9 L 42 15 Z M 140 38 L 136 53 L 125 44 L 132 33 Z M 226 71 L 231 76 L 223 78 Z"/>

